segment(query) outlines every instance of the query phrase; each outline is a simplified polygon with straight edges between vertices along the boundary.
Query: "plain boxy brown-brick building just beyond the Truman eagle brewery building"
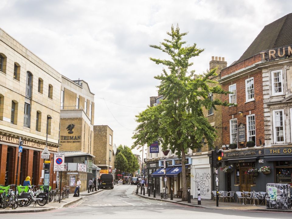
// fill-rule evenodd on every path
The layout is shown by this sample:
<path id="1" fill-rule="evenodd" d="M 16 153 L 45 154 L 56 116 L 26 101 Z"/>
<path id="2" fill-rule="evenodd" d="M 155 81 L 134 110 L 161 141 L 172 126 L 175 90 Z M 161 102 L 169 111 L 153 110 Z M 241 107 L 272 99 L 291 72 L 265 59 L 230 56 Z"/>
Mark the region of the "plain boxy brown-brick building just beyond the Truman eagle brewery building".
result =
<path id="1" fill-rule="evenodd" d="M 96 125 L 94 130 L 94 164 L 101 168 L 100 173 L 112 173 L 115 168 L 113 130 L 107 125 Z"/>

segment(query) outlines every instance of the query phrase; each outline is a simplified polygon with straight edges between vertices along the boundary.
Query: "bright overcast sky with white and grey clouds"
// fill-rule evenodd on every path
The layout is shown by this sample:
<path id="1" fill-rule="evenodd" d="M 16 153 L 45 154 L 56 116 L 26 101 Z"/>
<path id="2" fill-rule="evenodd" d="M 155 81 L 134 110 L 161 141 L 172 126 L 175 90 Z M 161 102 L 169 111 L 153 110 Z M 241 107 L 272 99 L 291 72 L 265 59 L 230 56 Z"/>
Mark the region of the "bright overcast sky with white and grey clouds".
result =
<path id="1" fill-rule="evenodd" d="M 0 27 L 62 75 L 89 83 L 95 125 L 113 129 L 113 142 L 131 146 L 135 115 L 157 96 L 162 72 L 149 57 L 171 25 L 205 49 L 193 58 L 196 73 L 211 56 L 237 60 L 262 28 L 290 13 L 292 1 L 1 0 Z M 137 153 L 137 151 L 134 151 Z"/>

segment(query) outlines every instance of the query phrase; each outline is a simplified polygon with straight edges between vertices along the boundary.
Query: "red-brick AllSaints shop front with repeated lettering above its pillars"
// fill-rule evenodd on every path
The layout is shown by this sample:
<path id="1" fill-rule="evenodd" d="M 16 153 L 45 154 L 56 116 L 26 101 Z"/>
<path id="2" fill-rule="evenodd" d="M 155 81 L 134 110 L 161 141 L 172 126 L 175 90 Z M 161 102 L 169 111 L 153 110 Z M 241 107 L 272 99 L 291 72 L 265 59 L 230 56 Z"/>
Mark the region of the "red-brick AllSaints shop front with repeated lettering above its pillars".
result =
<path id="1" fill-rule="evenodd" d="M 23 141 L 23 150 L 19 155 L 17 183 L 22 184 L 26 176 L 30 176 L 33 185 L 43 183 L 42 170 L 44 159 L 41 153 L 46 143 L 33 137 L 19 136 L 16 133 L 2 131 L 0 134 L 0 184 L 10 185 L 16 183 L 16 170 L 18 158 L 19 137 Z M 58 151 L 59 144 L 48 143 L 50 159 L 54 152 Z M 56 174 L 53 174 L 53 163 L 50 165 L 50 185 L 56 181 Z"/>

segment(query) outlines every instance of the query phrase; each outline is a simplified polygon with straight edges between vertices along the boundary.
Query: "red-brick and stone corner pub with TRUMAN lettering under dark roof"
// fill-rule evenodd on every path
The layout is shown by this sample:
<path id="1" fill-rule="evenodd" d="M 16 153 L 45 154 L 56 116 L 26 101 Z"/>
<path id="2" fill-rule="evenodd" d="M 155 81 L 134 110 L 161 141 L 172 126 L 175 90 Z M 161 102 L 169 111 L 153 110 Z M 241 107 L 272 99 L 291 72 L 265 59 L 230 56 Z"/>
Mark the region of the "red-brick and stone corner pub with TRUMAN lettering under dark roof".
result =
<path id="1" fill-rule="evenodd" d="M 244 54 L 221 71 L 219 82 L 233 92 L 222 109 L 224 164 L 220 190 L 265 191 L 266 183 L 291 183 L 291 25 L 288 14 L 266 25 Z M 277 156 L 275 156 L 277 155 Z M 270 166 L 271 173 L 245 174 Z"/>

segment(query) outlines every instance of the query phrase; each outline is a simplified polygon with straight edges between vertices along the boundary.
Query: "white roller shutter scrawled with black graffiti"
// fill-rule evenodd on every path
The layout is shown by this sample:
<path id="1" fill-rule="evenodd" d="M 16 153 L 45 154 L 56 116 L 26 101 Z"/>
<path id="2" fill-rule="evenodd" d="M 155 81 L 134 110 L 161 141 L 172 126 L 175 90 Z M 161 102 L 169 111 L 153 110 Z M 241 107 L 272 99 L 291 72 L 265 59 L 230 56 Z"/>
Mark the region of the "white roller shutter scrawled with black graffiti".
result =
<path id="1" fill-rule="evenodd" d="M 211 174 L 210 167 L 196 168 L 194 181 L 195 181 L 195 198 L 198 197 L 198 189 L 201 192 L 202 199 L 211 199 Z"/>

